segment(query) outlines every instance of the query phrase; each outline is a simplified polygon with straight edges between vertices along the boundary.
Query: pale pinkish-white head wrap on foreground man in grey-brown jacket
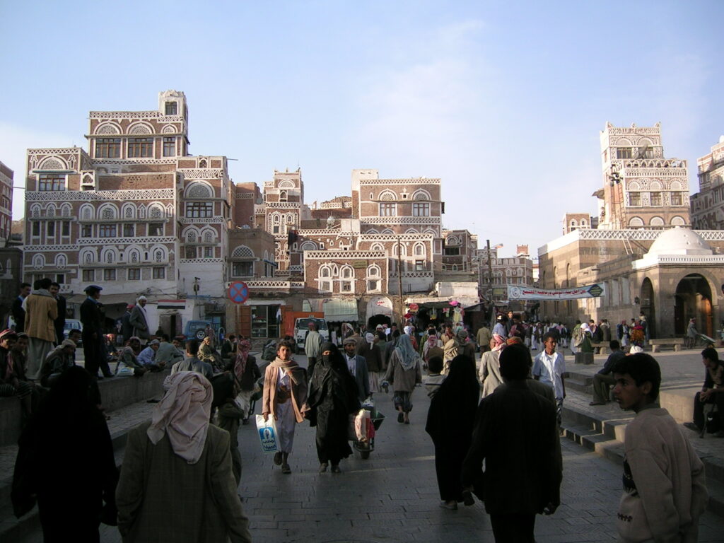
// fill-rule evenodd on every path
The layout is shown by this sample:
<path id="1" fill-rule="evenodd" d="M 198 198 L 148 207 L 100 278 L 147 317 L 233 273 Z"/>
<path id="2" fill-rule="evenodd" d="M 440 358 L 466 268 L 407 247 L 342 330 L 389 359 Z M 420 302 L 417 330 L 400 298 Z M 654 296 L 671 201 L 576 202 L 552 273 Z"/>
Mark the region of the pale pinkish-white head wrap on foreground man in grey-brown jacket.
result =
<path id="1" fill-rule="evenodd" d="M 201 458 L 209 432 L 211 383 L 195 371 L 179 371 L 164 380 L 167 389 L 163 400 L 153 408 L 151 426 L 146 434 L 156 445 L 167 434 L 174 452 L 187 463 Z"/>

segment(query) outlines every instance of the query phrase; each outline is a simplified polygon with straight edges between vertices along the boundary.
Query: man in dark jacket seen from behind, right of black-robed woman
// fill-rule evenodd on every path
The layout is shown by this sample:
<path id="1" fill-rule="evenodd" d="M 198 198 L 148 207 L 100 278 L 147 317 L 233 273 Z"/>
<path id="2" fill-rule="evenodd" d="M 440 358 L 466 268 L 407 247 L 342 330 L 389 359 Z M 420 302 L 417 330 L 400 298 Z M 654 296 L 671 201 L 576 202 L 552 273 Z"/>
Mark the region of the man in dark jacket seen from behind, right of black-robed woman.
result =
<path id="1" fill-rule="evenodd" d="M 524 345 L 502 351 L 504 383 L 481 400 L 463 462 L 463 488 L 484 501 L 497 543 L 533 543 L 536 514 L 560 504 L 555 406 L 527 386 L 529 363 Z"/>

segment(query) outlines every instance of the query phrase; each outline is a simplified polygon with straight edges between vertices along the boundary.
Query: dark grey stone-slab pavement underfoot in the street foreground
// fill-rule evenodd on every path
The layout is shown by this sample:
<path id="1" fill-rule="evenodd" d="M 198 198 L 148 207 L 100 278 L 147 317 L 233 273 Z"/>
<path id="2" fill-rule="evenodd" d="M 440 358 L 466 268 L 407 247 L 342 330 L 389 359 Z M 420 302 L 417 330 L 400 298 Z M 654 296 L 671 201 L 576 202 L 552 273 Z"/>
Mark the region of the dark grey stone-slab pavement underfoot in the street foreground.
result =
<path id="1" fill-rule="evenodd" d="M 424 432 L 429 407 L 424 389 L 413 393 L 410 425 L 397 424 L 391 395 L 381 394 L 378 401 L 388 417 L 377 434 L 376 450 L 369 460 L 355 452 L 342 461 L 340 474 L 317 473 L 314 431 L 307 424 L 297 429 L 291 475 L 282 474 L 271 456 L 261 452 L 253 425 L 241 426 L 240 494 L 255 541 L 493 542 L 479 502 L 457 511 L 439 508 L 434 450 Z M 142 420 L 153 407 L 145 405 L 136 404 L 129 416 Z M 562 505 L 550 517 L 537 517 L 536 541 L 615 541 L 620 466 L 567 439 L 562 446 Z M 724 519 L 707 512 L 699 541 L 721 542 L 723 534 Z M 101 540 L 121 541 L 117 529 L 109 526 L 101 527 Z M 41 541 L 35 531 L 19 543 Z"/>

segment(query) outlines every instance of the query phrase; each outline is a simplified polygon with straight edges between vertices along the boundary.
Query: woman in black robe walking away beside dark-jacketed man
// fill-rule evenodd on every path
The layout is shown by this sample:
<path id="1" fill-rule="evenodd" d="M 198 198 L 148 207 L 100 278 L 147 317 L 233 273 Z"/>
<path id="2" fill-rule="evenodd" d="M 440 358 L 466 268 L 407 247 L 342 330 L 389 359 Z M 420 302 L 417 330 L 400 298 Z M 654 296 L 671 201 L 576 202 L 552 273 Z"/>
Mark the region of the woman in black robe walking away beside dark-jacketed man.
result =
<path id="1" fill-rule="evenodd" d="M 435 445 L 440 506 L 446 509 L 457 509 L 458 502 L 463 501 L 460 476 L 473 435 L 478 393 L 474 366 L 468 357 L 458 355 L 450 362 L 450 373 L 427 412 L 425 431 Z M 471 497 L 466 499 L 466 505 L 472 505 Z"/>

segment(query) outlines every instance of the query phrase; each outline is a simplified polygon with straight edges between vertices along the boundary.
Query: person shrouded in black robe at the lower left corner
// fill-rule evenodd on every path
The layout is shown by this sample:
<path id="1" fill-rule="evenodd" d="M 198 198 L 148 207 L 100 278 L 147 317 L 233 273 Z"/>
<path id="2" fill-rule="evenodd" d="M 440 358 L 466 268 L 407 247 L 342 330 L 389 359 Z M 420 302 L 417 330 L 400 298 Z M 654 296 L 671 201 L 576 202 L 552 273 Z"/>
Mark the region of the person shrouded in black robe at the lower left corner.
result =
<path id="1" fill-rule="evenodd" d="M 98 542 L 101 522 L 116 525 L 118 470 L 92 387 L 83 368 L 64 371 L 20 436 L 14 512 L 20 517 L 37 500 L 46 543 Z"/>

